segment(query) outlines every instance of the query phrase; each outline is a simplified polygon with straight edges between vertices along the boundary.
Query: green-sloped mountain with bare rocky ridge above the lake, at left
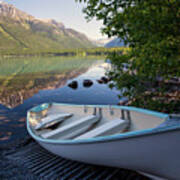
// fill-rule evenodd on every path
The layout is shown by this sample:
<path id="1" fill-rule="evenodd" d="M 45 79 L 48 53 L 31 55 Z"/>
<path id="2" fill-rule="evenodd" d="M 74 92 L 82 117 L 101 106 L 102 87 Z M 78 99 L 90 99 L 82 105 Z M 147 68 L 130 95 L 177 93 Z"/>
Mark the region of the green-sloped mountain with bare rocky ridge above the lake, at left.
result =
<path id="1" fill-rule="evenodd" d="M 0 1 L 0 53 L 50 52 L 95 45 L 86 35 L 53 19 L 37 19 Z"/>

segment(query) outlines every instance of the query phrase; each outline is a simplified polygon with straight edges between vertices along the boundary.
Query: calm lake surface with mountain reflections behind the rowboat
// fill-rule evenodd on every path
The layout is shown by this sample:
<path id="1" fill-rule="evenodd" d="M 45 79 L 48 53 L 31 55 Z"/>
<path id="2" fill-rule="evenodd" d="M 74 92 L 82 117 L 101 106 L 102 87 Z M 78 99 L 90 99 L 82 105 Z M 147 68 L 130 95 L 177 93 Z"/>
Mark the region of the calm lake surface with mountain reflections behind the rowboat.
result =
<path id="1" fill-rule="evenodd" d="M 27 136 L 26 112 L 45 103 L 117 104 L 119 91 L 97 82 L 110 67 L 96 58 L 0 59 L 0 143 Z M 84 87 L 90 79 L 93 85 Z M 77 81 L 76 88 L 68 86 Z"/>

